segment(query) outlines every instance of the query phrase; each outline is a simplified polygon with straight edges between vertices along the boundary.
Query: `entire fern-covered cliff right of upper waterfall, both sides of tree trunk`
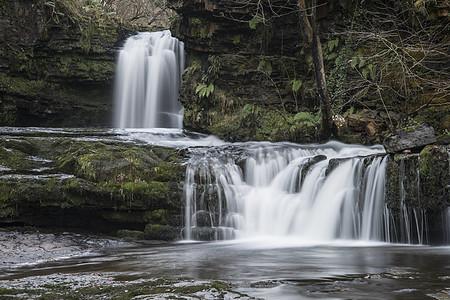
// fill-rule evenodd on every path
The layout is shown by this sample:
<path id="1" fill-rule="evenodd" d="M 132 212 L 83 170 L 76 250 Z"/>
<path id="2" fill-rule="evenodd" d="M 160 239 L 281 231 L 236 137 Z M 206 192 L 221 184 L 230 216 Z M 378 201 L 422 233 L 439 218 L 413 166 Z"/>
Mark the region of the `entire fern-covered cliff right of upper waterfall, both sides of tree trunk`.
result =
<path id="1" fill-rule="evenodd" d="M 381 2 L 318 1 L 315 15 L 337 138 L 380 143 L 389 128 L 412 119 L 441 134 L 449 129 L 441 80 L 448 78 L 448 56 L 442 54 L 448 35 L 441 30 L 447 4 Z M 318 140 L 314 68 L 303 45 L 297 1 L 169 3 L 179 15 L 172 30 L 189 57 L 181 91 L 187 128 L 228 140 Z M 424 47 L 443 51 L 420 50 Z M 417 51 L 400 54 L 395 51 L 400 48 Z M 355 128 L 352 120 L 362 109 L 376 122 Z"/>

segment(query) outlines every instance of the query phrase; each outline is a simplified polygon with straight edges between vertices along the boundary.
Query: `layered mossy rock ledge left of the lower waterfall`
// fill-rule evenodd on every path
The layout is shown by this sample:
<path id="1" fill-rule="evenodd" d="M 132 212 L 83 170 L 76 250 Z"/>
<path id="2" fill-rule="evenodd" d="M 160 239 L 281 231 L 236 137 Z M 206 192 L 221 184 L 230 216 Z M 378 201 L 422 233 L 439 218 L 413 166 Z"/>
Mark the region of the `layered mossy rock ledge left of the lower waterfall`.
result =
<path id="1" fill-rule="evenodd" d="M 176 149 L 117 141 L 1 137 L 0 224 L 128 237 L 143 237 L 150 224 L 163 230 L 145 237 L 178 239 L 184 159 Z"/>

